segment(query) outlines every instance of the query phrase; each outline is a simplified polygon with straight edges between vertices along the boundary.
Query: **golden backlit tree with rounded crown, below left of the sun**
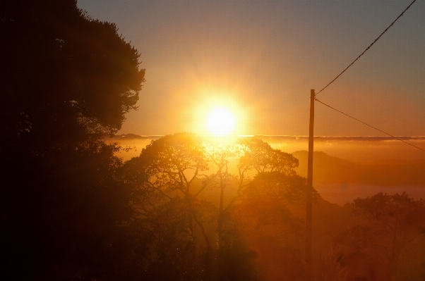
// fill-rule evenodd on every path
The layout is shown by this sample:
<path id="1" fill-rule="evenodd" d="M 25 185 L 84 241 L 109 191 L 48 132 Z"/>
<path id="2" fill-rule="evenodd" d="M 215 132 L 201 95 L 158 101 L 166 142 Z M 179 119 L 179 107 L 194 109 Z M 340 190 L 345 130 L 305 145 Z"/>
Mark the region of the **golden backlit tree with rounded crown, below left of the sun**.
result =
<path id="1" fill-rule="evenodd" d="M 188 235 L 192 237 L 191 239 L 195 239 L 193 231 L 197 225 L 200 227 L 205 244 L 211 249 L 203 221 L 196 216 L 196 206 L 199 206 L 198 195 L 210 182 L 210 177 L 202 175 L 208 170 L 202 139 L 190 133 L 167 135 L 146 146 L 140 153 L 139 163 L 146 175 L 140 185 L 160 194 L 165 201 L 174 200 L 176 195 L 183 196 Z M 204 181 L 197 189 L 196 183 L 199 182 L 199 177 L 203 177 Z"/>

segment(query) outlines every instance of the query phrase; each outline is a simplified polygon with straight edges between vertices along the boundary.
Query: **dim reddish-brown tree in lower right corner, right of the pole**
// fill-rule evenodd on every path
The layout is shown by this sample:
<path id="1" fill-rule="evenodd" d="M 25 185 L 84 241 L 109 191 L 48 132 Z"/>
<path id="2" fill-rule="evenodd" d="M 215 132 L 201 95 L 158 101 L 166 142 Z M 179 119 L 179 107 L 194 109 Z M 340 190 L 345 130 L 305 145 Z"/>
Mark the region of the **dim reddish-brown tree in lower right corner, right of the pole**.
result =
<path id="1" fill-rule="evenodd" d="M 405 280 L 407 275 L 419 270 L 410 268 L 412 273 L 399 274 L 401 263 L 423 259 L 423 254 L 414 256 L 407 251 L 410 245 L 425 241 L 423 199 L 414 200 L 406 193 L 378 193 L 354 199 L 351 206 L 353 213 L 364 223 L 335 237 L 332 256 L 339 264 L 337 275 L 345 275 L 347 280 L 371 277 L 376 280 Z"/>

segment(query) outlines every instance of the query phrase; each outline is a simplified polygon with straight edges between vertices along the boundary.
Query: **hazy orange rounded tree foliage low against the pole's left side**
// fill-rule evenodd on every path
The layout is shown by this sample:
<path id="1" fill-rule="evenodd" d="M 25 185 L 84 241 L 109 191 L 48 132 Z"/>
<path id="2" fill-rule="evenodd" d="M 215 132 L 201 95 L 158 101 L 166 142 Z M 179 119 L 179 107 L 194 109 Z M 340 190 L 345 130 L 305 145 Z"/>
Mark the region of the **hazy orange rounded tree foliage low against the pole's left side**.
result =
<path id="1" fill-rule="evenodd" d="M 239 224 L 251 237 L 267 235 L 286 246 L 294 244 L 294 238 L 302 235 L 303 224 L 288 207 L 300 206 L 305 201 L 305 190 L 306 179 L 299 175 L 258 173 L 244 189 L 237 206 Z"/>

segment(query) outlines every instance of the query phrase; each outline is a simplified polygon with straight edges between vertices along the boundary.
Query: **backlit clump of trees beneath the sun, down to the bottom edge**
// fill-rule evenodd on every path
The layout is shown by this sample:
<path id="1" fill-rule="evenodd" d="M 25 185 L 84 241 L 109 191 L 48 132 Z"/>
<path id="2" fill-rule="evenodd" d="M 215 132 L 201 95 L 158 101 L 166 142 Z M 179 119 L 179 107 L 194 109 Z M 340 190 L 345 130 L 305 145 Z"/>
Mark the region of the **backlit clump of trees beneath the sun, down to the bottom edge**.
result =
<path id="1" fill-rule="evenodd" d="M 297 164 L 258 139 L 182 132 L 152 141 L 119 172 L 133 190 L 131 225 L 144 233 L 150 252 L 145 280 L 263 280 L 249 236 L 269 227 L 282 251 L 300 236 L 300 222 L 287 209 L 304 199 Z M 229 172 L 235 168 L 239 176 Z"/>

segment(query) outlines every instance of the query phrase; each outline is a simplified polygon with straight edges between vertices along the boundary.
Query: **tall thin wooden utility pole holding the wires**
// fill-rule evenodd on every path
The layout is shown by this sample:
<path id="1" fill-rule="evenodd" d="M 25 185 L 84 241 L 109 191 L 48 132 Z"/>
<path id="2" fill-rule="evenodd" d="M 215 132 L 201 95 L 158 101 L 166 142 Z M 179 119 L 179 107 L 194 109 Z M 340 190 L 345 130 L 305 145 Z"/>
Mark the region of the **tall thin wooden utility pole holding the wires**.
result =
<path id="1" fill-rule="evenodd" d="M 309 162 L 307 170 L 306 191 L 306 266 L 311 280 L 311 232 L 313 223 L 313 125 L 314 125 L 314 90 L 310 92 L 310 126 L 309 126 Z"/>

